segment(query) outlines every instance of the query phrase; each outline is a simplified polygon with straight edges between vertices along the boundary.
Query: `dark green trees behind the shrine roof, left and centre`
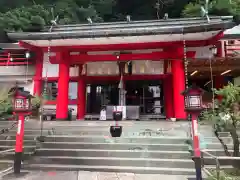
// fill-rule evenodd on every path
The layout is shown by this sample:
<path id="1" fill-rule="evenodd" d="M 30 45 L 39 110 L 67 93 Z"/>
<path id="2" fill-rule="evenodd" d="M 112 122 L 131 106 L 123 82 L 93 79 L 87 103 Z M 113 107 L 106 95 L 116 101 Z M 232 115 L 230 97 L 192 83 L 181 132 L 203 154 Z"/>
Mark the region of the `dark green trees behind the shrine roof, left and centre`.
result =
<path id="1" fill-rule="evenodd" d="M 8 0 L 0 1 L 0 28 L 7 31 L 39 31 L 55 16 L 59 24 L 180 17 L 193 0 Z M 51 11 L 54 9 L 54 12 Z"/>

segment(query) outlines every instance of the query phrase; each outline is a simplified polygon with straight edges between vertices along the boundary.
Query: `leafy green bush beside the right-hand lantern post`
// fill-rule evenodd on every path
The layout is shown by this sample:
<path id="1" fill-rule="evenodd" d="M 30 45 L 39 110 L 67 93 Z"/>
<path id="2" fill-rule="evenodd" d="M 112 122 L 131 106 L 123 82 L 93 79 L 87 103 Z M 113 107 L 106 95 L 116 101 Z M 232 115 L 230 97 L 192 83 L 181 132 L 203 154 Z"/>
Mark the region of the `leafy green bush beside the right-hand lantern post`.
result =
<path id="1" fill-rule="evenodd" d="M 229 83 L 220 90 L 214 89 L 214 92 L 221 97 L 221 100 L 215 102 L 216 108 L 204 112 L 205 119 L 212 122 L 214 133 L 222 144 L 225 154 L 240 157 L 240 143 L 237 133 L 240 125 L 240 87 Z M 233 154 L 230 153 L 227 145 L 219 135 L 219 132 L 223 131 L 230 132 L 233 142 Z M 234 165 L 240 166 L 239 162 Z"/>

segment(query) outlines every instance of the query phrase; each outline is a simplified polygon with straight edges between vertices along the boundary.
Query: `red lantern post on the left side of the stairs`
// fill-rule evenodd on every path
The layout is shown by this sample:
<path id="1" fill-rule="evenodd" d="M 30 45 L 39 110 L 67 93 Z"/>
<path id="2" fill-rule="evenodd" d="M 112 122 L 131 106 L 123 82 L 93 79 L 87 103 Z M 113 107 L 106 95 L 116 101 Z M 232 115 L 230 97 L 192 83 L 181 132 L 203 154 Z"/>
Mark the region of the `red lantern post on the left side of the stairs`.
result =
<path id="1" fill-rule="evenodd" d="M 13 93 L 13 114 L 18 116 L 18 128 L 16 133 L 14 174 L 19 175 L 22 163 L 23 140 L 24 140 L 24 120 L 25 116 L 31 114 L 31 98 L 33 96 L 28 91 L 21 91 L 16 88 Z"/>

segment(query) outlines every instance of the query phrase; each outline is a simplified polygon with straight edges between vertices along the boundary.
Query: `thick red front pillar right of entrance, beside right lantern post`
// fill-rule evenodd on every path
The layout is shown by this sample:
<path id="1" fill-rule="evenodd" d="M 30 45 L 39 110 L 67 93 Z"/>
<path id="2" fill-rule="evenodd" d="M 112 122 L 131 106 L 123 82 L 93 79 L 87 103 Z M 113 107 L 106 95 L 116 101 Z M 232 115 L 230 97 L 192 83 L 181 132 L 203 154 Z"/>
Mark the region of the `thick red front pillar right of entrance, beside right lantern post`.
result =
<path id="1" fill-rule="evenodd" d="M 177 53 L 182 53 L 183 48 L 179 48 Z M 183 60 L 172 60 L 172 81 L 173 81 L 173 106 L 176 119 L 186 119 L 184 111 L 184 96 L 181 94 L 185 90 L 185 73 Z"/>

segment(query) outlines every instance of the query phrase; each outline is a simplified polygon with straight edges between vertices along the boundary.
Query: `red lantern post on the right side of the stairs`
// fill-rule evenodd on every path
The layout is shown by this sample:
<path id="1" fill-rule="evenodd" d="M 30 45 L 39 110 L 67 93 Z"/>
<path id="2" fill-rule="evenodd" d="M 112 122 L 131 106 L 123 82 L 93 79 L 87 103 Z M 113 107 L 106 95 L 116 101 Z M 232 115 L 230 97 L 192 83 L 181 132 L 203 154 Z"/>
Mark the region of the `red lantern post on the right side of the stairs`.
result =
<path id="1" fill-rule="evenodd" d="M 203 90 L 193 85 L 186 89 L 182 95 L 185 99 L 185 111 L 191 115 L 192 120 L 192 142 L 193 142 L 193 161 L 196 169 L 196 180 L 202 180 L 202 161 L 200 150 L 200 139 L 198 133 L 198 116 L 203 110 L 202 95 Z"/>

